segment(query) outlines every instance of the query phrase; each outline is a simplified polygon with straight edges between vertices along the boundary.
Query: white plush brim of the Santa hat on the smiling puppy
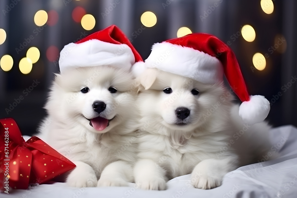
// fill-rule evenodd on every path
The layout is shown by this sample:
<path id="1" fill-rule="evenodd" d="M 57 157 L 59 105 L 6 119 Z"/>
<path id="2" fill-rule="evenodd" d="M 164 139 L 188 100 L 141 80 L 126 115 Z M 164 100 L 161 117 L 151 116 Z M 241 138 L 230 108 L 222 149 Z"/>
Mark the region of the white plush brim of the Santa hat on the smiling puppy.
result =
<path id="1" fill-rule="evenodd" d="M 130 70 L 135 63 L 131 48 L 126 44 L 113 44 L 98 39 L 82 43 L 69 43 L 60 53 L 61 74 L 69 68 L 113 65 Z"/>

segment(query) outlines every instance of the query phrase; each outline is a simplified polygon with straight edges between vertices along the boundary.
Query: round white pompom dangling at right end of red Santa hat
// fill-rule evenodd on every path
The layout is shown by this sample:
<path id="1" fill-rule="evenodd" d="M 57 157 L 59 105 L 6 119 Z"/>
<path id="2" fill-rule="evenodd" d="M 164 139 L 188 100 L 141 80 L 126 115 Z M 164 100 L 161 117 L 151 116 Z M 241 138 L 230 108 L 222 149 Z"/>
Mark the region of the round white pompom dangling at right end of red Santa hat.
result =
<path id="1" fill-rule="evenodd" d="M 268 115 L 270 103 L 260 95 L 250 96 L 249 101 L 244 101 L 239 106 L 239 116 L 248 124 L 262 122 Z"/>

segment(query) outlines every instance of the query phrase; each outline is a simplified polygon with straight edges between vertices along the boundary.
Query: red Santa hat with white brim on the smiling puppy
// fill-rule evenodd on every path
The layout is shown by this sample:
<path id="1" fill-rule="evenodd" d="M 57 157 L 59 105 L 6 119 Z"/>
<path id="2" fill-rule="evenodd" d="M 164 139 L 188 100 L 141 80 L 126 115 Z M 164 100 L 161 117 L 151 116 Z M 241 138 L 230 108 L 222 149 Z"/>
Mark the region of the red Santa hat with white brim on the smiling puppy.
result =
<path id="1" fill-rule="evenodd" d="M 60 53 L 59 67 L 61 74 L 69 68 L 98 65 L 130 70 L 138 61 L 143 60 L 129 39 L 120 28 L 111 25 L 65 45 Z"/>

